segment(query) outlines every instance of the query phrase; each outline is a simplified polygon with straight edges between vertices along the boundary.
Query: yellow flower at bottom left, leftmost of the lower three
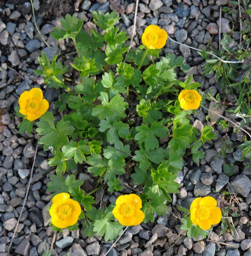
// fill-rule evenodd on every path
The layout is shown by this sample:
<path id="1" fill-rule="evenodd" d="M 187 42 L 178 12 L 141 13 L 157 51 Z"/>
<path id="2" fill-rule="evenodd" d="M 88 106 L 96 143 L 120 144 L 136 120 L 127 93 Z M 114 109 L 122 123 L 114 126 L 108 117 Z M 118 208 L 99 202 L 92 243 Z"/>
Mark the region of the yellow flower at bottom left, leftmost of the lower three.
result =
<path id="1" fill-rule="evenodd" d="M 51 223 L 58 228 L 65 228 L 77 223 L 81 213 L 80 204 L 70 199 L 68 193 L 60 193 L 52 198 L 53 204 L 50 208 Z"/>

